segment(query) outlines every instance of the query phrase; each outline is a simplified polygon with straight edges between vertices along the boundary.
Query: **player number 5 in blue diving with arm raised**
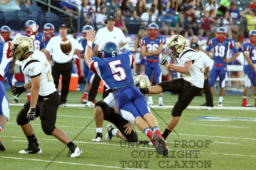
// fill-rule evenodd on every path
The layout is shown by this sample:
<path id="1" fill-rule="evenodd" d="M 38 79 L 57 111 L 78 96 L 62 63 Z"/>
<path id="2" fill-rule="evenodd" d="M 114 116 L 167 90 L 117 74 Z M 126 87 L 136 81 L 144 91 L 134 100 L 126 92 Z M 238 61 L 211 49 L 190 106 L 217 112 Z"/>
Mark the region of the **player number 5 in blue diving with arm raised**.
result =
<path id="1" fill-rule="evenodd" d="M 95 32 L 94 30 L 87 32 L 87 46 L 90 47 L 85 49 L 84 58 L 87 65 L 101 77 L 107 87 L 106 91 L 113 93 L 120 115 L 144 132 L 159 154 L 167 155 L 168 147 L 160 133 L 158 123 L 147 107 L 145 96 L 134 85 L 131 68 L 134 62 L 133 55 L 130 51 L 120 54 L 118 45 L 107 41 L 101 47 L 102 58 L 91 58 L 91 47 L 97 39 L 94 38 Z"/>

